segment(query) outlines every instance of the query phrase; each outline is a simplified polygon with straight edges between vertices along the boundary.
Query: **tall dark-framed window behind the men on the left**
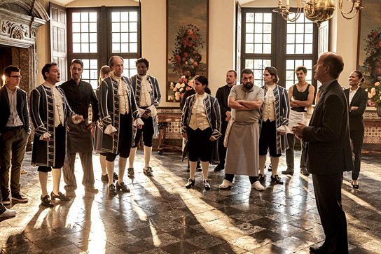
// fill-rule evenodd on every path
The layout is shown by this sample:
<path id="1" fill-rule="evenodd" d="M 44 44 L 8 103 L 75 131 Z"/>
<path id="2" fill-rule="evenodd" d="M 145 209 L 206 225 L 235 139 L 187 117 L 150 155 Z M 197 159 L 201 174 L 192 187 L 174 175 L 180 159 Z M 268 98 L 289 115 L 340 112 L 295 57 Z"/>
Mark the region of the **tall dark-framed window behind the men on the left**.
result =
<path id="1" fill-rule="evenodd" d="M 69 8 L 68 59 L 82 59 L 82 79 L 98 86 L 99 69 L 112 55 L 124 59 L 123 76 L 134 76 L 140 57 L 139 8 Z"/>

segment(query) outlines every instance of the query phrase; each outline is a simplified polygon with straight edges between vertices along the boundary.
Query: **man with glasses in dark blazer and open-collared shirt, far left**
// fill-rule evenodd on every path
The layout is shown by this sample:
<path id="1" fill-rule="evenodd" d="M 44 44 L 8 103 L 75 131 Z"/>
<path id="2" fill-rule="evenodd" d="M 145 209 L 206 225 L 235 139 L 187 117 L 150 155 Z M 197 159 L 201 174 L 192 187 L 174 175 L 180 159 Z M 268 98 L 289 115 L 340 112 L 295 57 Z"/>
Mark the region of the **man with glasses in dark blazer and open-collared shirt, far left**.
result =
<path id="1" fill-rule="evenodd" d="M 6 85 L 0 88 L 0 190 L 3 204 L 10 204 L 11 199 L 18 202 L 28 201 L 20 193 L 20 174 L 30 127 L 27 93 L 18 88 L 20 69 L 7 66 L 4 75 Z"/>

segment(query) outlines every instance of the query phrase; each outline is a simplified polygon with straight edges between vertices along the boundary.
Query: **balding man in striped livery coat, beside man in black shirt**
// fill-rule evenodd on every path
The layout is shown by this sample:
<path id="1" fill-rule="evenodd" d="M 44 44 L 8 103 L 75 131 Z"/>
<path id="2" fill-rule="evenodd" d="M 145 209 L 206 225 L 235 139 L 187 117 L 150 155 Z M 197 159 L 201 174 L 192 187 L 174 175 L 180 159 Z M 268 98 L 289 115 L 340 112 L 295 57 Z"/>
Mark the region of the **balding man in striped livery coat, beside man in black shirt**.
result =
<path id="1" fill-rule="evenodd" d="M 109 176 L 113 176 L 113 167 L 116 155 L 119 155 L 119 177 L 116 185 L 109 177 L 108 191 L 116 195 L 116 190 L 130 192 L 123 182 L 127 158 L 134 145 L 134 128 L 141 129 L 143 122 L 132 92 L 131 80 L 123 73 L 123 58 L 114 55 L 109 60 L 111 76 L 105 78 L 99 86 L 99 115 L 104 125 L 102 136 L 101 155 L 106 156 L 106 169 Z"/>

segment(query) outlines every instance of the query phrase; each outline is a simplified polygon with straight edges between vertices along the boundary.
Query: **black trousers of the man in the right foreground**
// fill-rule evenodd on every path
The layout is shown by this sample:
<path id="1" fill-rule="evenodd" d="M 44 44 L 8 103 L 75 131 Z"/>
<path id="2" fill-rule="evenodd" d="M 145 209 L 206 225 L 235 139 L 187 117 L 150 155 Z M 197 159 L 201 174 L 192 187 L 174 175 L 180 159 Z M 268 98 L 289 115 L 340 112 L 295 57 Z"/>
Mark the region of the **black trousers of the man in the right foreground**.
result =
<path id="1" fill-rule="evenodd" d="M 326 234 L 324 245 L 337 253 L 348 253 L 347 218 L 342 210 L 342 173 L 334 175 L 312 174 L 317 210 Z"/>

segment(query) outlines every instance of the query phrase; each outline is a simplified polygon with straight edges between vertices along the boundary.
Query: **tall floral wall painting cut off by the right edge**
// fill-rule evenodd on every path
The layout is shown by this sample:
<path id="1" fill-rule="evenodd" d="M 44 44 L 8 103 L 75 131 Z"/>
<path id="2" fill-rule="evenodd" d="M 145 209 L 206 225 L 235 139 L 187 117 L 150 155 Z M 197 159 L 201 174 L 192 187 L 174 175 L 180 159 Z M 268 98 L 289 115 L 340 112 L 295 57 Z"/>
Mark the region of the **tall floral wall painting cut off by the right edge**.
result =
<path id="1" fill-rule="evenodd" d="M 381 4 L 367 0 L 365 5 L 359 18 L 357 66 L 366 79 L 361 86 L 369 92 L 368 106 L 375 106 L 381 81 Z"/>

